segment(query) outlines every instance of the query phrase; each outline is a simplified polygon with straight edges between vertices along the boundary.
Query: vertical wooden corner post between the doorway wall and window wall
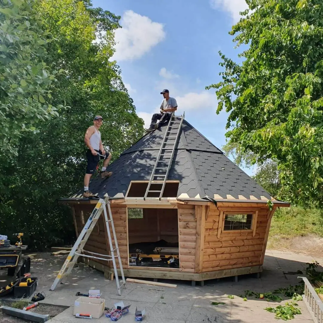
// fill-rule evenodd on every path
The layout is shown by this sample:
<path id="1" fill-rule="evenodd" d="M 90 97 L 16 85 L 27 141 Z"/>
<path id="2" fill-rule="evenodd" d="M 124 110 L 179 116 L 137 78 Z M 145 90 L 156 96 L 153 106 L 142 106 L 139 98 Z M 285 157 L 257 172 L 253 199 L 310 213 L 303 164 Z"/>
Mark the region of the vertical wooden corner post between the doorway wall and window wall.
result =
<path id="1" fill-rule="evenodd" d="M 195 205 L 196 217 L 196 253 L 195 253 L 195 272 L 201 273 L 203 269 L 203 251 L 205 235 L 205 216 L 206 205 Z"/>

